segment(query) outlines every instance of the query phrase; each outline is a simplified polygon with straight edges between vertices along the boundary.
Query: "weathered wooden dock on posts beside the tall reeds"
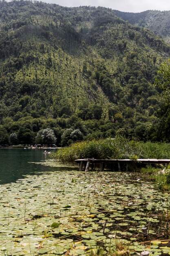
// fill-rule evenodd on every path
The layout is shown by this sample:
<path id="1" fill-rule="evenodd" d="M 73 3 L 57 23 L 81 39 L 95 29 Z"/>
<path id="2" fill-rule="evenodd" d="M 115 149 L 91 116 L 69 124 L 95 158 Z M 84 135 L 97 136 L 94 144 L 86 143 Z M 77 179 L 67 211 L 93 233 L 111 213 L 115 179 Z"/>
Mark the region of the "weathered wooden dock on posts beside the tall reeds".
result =
<path id="1" fill-rule="evenodd" d="M 89 171 L 90 167 L 93 170 L 96 166 L 99 166 L 101 171 L 104 171 L 106 166 L 117 166 L 118 171 L 121 171 L 121 166 L 128 164 L 170 164 L 170 159 L 137 159 L 132 161 L 131 159 L 77 159 L 75 162 L 79 163 L 79 171 Z"/>

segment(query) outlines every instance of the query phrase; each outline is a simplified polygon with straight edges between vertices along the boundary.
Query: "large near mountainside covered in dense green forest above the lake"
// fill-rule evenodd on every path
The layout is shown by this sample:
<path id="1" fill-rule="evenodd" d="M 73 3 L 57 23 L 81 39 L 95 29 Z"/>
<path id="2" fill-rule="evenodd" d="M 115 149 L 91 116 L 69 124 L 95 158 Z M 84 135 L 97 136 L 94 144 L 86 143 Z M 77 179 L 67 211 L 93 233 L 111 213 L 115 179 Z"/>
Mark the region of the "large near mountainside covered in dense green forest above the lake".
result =
<path id="1" fill-rule="evenodd" d="M 111 9 L 1 1 L 0 145 L 169 141 L 155 85 L 168 58 L 168 43 Z"/>

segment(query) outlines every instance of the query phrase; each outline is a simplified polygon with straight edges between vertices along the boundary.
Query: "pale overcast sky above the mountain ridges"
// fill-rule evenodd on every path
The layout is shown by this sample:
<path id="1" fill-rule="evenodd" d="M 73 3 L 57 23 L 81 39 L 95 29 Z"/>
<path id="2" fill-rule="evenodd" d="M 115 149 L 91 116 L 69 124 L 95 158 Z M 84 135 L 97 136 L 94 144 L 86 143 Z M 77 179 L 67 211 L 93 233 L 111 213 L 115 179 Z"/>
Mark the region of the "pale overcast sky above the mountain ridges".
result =
<path id="1" fill-rule="evenodd" d="M 62 6 L 77 7 L 80 5 L 104 6 L 126 12 L 146 10 L 170 11 L 170 0 L 42 0 Z"/>

